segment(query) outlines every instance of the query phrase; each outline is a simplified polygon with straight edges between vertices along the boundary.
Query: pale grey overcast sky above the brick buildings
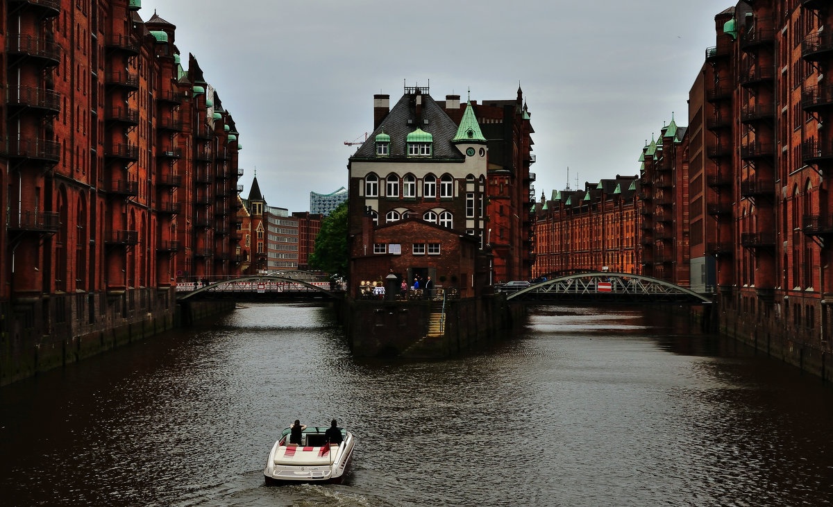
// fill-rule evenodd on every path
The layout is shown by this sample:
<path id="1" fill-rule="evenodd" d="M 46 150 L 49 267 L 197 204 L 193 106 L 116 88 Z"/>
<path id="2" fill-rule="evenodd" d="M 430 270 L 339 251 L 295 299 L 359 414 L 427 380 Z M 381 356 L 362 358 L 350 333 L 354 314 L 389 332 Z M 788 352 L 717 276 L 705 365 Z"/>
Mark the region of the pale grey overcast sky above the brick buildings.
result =
<path id="1" fill-rule="evenodd" d="M 715 45 L 727 0 L 142 0 L 177 26 L 187 63 L 232 113 L 270 206 L 308 211 L 347 186 L 347 158 L 373 129 L 373 94 L 512 99 L 531 112 L 536 195 L 636 175 L 641 148 L 675 115 Z"/>

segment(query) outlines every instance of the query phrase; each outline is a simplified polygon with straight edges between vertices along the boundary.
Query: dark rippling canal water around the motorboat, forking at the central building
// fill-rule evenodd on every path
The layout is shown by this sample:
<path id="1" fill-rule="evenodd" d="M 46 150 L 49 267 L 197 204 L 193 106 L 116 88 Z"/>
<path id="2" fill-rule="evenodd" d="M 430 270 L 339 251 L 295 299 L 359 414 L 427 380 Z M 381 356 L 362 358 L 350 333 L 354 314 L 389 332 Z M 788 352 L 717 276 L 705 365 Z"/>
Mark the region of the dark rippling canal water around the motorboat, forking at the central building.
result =
<path id="1" fill-rule="evenodd" d="M 833 388 L 666 311 L 542 306 L 451 360 L 357 360 L 262 305 L 0 389 L 2 505 L 829 505 Z M 267 487 L 295 419 L 343 485 Z"/>

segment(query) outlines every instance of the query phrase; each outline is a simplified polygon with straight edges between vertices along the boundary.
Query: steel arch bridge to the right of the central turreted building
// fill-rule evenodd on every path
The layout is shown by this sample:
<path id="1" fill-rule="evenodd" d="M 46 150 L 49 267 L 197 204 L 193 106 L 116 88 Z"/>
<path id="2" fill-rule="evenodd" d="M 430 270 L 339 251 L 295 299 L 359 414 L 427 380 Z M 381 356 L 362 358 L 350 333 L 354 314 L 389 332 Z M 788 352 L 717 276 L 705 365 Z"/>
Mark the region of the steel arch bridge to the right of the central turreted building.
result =
<path id="1" fill-rule="evenodd" d="M 506 296 L 507 301 L 688 302 L 711 299 L 651 276 L 591 271 L 542 281 Z"/>

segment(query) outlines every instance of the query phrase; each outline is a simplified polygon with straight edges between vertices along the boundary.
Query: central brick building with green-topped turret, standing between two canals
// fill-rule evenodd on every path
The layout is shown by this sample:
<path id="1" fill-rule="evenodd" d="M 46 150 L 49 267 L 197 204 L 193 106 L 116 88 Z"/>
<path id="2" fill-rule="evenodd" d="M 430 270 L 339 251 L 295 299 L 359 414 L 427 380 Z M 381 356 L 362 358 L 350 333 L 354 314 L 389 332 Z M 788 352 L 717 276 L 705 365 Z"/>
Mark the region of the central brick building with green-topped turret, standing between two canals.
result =
<path id="1" fill-rule="evenodd" d="M 520 90 L 486 103 L 435 102 L 426 87 L 406 87 L 392 108 L 389 96 L 374 97 L 374 132 L 349 164 L 353 288 L 391 269 L 463 295 L 496 273 L 529 277 L 529 113 Z"/>

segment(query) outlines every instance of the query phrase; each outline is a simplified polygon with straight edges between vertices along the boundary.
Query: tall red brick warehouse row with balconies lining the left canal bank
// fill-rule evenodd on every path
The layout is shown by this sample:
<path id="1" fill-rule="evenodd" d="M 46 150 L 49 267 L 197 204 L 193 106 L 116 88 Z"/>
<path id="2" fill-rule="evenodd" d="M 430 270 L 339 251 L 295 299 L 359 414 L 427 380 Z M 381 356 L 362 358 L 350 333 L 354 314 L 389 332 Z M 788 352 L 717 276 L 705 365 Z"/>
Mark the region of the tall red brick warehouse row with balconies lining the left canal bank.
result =
<path id="1" fill-rule="evenodd" d="M 174 25 L 143 22 L 141 2 L 0 8 L 7 382 L 168 326 L 177 276 L 236 272 L 240 146 Z"/>

